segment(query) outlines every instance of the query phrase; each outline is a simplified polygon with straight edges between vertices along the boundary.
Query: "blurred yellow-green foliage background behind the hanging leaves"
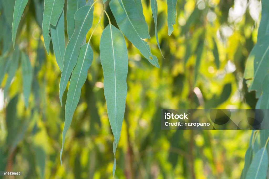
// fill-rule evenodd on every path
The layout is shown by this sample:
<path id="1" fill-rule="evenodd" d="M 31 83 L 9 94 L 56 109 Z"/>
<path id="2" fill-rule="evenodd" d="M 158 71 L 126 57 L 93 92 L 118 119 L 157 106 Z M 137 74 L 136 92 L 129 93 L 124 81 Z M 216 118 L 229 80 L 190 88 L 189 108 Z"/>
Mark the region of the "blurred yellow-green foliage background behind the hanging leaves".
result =
<path id="1" fill-rule="evenodd" d="M 99 56 L 107 18 L 102 16 L 102 27 L 97 26 L 90 41 L 94 60 L 66 135 L 61 167 L 65 106 L 59 102 L 61 71 L 52 44 L 47 55 L 41 35 L 44 2 L 29 0 L 17 33 L 16 44 L 29 55 L 33 67 L 27 108 L 21 62 L 10 88 L 6 87 L 13 65 L 9 63 L 13 46 L 8 9 L 15 1 L 0 2 L 0 62 L 4 64 L 0 71 L 4 74 L 0 79 L 0 171 L 22 171 L 23 176 L 15 178 L 112 178 L 113 135 Z M 157 29 L 164 59 L 155 38 L 150 1 L 142 1 L 142 5 L 151 35 L 147 41 L 159 59 L 160 69 L 125 39 L 128 94 L 115 178 L 239 178 L 251 131 L 161 131 L 160 109 L 255 108 L 257 99 L 254 92 L 247 92 L 243 72 L 257 41 L 260 2 L 179 0 L 171 36 L 167 35 L 167 3 L 157 2 Z M 108 2 L 104 7 L 117 27 Z M 94 5 L 93 27 L 102 9 L 101 1 Z M 87 39 L 92 32 L 93 28 Z M 65 37 L 67 42 L 67 32 Z M 66 95 L 67 91 L 64 100 Z"/>

